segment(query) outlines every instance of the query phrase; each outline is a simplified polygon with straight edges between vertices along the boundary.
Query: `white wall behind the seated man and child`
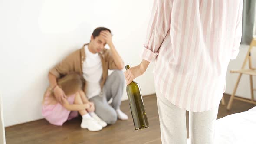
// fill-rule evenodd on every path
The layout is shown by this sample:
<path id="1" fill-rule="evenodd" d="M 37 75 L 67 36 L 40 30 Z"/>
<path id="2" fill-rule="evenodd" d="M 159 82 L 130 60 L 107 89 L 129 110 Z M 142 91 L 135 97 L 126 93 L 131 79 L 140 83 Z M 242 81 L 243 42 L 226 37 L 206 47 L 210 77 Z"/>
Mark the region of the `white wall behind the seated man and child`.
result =
<path id="1" fill-rule="evenodd" d="M 98 26 L 112 30 L 125 61 L 141 58 L 153 0 L 1 0 L 0 90 L 5 126 L 42 118 L 48 70 L 89 42 Z M 136 80 L 154 93 L 152 66 Z M 126 99 L 126 93 L 123 99 Z"/>

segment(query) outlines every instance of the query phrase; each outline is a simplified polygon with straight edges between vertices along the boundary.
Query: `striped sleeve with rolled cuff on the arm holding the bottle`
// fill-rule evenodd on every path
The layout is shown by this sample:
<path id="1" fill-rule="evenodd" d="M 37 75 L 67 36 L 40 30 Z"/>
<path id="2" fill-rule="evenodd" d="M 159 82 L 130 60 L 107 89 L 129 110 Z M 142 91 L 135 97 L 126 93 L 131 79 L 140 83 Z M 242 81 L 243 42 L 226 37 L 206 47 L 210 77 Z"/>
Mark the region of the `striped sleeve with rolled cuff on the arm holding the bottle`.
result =
<path id="1" fill-rule="evenodd" d="M 142 59 L 151 62 L 158 55 L 158 50 L 170 29 L 172 5 L 173 0 L 154 0 Z"/>

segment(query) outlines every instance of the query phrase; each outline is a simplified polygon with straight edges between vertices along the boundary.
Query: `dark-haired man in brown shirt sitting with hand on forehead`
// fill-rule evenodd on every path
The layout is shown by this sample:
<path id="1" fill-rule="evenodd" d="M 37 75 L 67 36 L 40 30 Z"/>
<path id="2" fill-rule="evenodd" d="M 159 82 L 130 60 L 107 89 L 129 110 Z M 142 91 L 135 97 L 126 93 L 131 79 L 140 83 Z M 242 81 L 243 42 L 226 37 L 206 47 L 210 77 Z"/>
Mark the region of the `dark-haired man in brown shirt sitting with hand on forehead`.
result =
<path id="1" fill-rule="evenodd" d="M 104 48 L 106 44 L 110 49 Z M 124 62 L 112 43 L 111 31 L 99 27 L 93 31 L 90 43 L 72 52 L 49 71 L 49 83 L 56 100 L 62 103 L 66 95 L 57 85 L 57 79 L 72 72 L 78 73 L 83 78 L 86 97 L 95 105 L 95 113 L 107 124 L 114 124 L 117 118 L 128 119 L 120 110 L 125 86 L 123 67 Z M 108 69 L 115 71 L 108 76 Z M 110 99 L 111 105 L 108 104 Z"/>

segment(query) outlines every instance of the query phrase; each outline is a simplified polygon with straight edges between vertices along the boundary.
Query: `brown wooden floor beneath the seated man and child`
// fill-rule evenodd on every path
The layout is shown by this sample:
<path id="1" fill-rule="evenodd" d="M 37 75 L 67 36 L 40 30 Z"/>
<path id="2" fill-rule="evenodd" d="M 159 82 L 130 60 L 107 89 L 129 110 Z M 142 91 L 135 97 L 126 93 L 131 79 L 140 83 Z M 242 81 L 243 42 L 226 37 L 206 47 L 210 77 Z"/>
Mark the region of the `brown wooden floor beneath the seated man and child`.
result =
<path id="1" fill-rule="evenodd" d="M 230 95 L 225 95 L 226 103 Z M 7 144 L 161 144 L 159 118 L 155 95 L 143 97 L 150 128 L 135 131 L 128 101 L 123 101 L 121 110 L 129 116 L 128 121 L 118 120 L 116 124 L 102 131 L 90 132 L 80 128 L 82 118 L 67 121 L 62 127 L 49 124 L 46 120 L 32 121 L 6 128 Z M 247 111 L 255 105 L 242 101 L 233 102 L 231 111 L 220 105 L 217 118 L 236 112 Z M 188 113 L 187 132 L 188 132 Z"/>

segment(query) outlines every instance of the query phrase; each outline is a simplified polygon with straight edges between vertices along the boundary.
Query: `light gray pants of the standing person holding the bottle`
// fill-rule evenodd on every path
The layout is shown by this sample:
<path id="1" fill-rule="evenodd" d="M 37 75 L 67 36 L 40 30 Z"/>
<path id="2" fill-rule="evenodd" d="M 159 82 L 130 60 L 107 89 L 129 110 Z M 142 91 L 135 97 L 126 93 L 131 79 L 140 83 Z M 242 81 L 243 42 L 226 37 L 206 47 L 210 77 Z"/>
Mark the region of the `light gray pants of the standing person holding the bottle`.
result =
<path id="1" fill-rule="evenodd" d="M 157 102 L 162 144 L 187 144 L 186 111 L 173 105 L 158 90 Z M 189 112 L 191 144 L 214 144 L 218 108 Z"/>

